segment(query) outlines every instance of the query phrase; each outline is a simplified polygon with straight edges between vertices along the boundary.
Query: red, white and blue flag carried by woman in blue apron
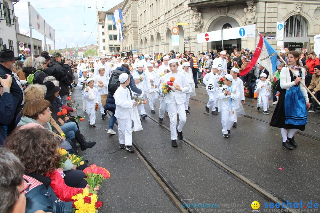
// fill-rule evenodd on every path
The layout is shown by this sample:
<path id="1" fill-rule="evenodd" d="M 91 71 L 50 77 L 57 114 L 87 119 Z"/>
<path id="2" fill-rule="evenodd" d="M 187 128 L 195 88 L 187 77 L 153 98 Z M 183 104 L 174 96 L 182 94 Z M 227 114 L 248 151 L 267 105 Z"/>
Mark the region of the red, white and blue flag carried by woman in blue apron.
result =
<path id="1" fill-rule="evenodd" d="M 261 66 L 266 68 L 269 72 L 272 71 L 272 73 L 274 73 L 277 68 L 276 61 L 277 61 L 276 50 L 260 34 L 260 40 L 259 40 L 257 49 L 254 52 L 250 63 L 244 68 L 243 71 L 239 73 L 239 75 L 246 75 L 256 63 L 259 63 Z"/>

